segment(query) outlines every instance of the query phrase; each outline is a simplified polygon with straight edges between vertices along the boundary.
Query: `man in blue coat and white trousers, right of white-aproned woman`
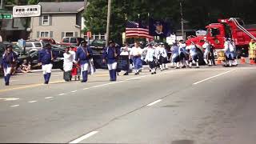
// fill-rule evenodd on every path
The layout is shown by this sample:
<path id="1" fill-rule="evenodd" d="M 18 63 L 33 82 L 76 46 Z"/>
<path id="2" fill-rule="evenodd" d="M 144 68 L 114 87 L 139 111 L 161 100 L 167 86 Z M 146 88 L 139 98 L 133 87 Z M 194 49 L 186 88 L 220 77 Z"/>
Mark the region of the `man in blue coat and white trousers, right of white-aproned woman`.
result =
<path id="1" fill-rule="evenodd" d="M 82 81 L 87 82 L 88 79 L 88 70 L 89 70 L 89 60 L 93 56 L 93 52 L 90 47 L 86 46 L 87 42 L 82 41 L 81 45 L 78 47 L 77 52 L 75 53 L 76 64 L 79 63 L 81 66 L 81 75 Z"/>

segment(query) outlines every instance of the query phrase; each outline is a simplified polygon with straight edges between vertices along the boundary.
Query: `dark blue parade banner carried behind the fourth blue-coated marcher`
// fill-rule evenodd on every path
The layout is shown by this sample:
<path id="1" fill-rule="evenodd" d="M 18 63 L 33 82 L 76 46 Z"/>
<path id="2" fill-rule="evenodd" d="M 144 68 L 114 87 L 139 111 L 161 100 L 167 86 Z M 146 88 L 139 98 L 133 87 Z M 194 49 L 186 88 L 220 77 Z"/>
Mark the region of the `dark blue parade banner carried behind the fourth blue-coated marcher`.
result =
<path id="1" fill-rule="evenodd" d="M 107 69 L 106 63 L 102 62 L 102 54 L 93 55 L 94 66 L 96 69 Z M 118 71 L 120 70 L 128 70 L 129 69 L 129 56 L 128 55 L 120 55 L 118 57 Z"/>

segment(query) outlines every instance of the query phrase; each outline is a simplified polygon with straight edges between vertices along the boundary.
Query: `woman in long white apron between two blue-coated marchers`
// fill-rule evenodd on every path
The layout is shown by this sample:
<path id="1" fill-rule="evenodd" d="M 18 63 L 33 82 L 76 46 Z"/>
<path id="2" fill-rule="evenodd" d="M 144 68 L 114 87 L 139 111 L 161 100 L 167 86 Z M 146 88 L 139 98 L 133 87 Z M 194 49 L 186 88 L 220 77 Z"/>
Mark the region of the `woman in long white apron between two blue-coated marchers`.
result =
<path id="1" fill-rule="evenodd" d="M 64 62 L 63 62 L 63 78 L 66 82 L 70 82 L 72 75 L 71 70 L 73 68 L 73 62 L 74 62 L 74 54 L 70 53 L 70 47 L 66 47 L 65 53 L 63 54 Z"/>

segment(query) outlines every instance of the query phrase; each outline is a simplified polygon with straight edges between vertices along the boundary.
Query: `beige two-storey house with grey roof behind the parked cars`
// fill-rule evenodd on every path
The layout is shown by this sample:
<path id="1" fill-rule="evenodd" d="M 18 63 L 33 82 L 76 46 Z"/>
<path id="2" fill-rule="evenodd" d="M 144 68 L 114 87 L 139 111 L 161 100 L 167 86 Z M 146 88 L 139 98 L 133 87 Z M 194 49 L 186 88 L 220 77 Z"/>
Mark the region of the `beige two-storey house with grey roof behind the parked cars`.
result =
<path id="1" fill-rule="evenodd" d="M 39 2 L 40 17 L 31 18 L 30 39 L 54 38 L 61 42 L 63 37 L 84 37 L 82 18 L 84 2 Z"/>

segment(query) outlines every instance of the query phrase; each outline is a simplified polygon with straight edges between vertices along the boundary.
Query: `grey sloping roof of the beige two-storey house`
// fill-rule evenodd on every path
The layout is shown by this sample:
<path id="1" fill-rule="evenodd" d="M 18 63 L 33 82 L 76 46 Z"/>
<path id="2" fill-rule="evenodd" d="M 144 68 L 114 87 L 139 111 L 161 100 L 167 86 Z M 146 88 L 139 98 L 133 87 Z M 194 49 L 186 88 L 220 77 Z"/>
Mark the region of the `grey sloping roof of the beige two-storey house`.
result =
<path id="1" fill-rule="evenodd" d="M 39 2 L 42 14 L 78 13 L 84 8 L 84 2 Z"/>

